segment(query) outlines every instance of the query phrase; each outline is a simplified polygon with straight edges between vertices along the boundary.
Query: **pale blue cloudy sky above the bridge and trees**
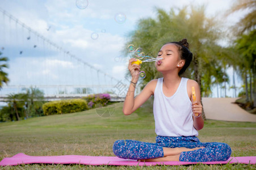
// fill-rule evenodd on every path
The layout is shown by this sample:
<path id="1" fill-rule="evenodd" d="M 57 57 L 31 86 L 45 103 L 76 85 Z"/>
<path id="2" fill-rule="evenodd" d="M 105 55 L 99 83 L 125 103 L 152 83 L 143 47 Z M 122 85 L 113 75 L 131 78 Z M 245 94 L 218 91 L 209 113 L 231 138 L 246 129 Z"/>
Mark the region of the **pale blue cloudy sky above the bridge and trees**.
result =
<path id="1" fill-rule="evenodd" d="M 129 58 L 122 56 L 122 50 L 125 48 L 129 32 L 136 29 L 139 19 L 154 18 L 156 7 L 169 11 L 170 8 L 187 5 L 205 5 L 208 16 L 221 19 L 224 12 L 233 4 L 232 0 L 88 0 L 88 6 L 79 9 L 75 2 L 1 0 L 0 8 L 57 46 L 90 63 L 96 69 L 114 76 L 117 80 L 124 79 L 127 70 Z M 125 22 L 116 22 L 115 15 L 119 13 L 125 16 Z M 226 25 L 225 29 L 241 17 L 241 13 L 237 13 L 230 15 L 227 20 L 222 19 Z M 2 56 L 10 58 L 10 68 L 7 70 L 11 80 L 9 85 L 98 83 L 95 70 L 92 72 L 89 67 L 63 54 L 2 13 L 0 32 L 0 46 L 5 48 L 0 49 Z M 92 39 L 92 33 L 97 33 L 98 38 Z M 91 82 L 88 82 L 88 79 Z M 99 75 L 99 79 L 100 83 L 109 80 L 106 80 L 104 75 Z M 5 88 L 1 90 L 2 94 L 5 92 Z"/>

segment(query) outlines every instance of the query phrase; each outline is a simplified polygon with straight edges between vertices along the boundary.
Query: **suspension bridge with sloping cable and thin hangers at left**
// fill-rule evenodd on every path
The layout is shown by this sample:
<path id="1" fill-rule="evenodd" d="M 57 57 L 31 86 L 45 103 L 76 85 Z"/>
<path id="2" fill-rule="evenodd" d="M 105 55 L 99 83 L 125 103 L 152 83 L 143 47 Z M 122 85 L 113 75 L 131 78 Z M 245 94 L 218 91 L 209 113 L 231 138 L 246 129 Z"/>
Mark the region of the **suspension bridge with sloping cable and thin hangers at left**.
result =
<path id="1" fill-rule="evenodd" d="M 81 57 L 85 54 L 75 56 L 72 50 L 56 44 L 2 8 L 0 12 L 0 57 L 9 58 L 9 69 L 5 71 L 10 79 L 0 91 L 0 101 L 31 87 L 43 91 L 46 100 L 99 93 L 110 94 L 112 101 L 124 100 L 128 81 L 116 79 L 108 70 L 88 62 Z"/>

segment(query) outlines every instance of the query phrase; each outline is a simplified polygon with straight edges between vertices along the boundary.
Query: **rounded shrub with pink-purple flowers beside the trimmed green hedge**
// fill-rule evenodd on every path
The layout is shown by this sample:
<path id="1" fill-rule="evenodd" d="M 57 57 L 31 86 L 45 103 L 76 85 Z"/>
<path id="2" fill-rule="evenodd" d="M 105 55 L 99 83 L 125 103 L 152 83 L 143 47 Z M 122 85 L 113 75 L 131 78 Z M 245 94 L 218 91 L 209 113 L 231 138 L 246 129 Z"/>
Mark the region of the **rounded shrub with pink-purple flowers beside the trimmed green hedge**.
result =
<path id="1" fill-rule="evenodd" d="M 107 103 L 110 101 L 110 94 L 95 94 L 95 95 L 89 95 L 87 97 L 83 97 L 89 105 L 90 108 L 95 108 L 96 105 L 99 105 L 99 107 L 107 105 Z"/>

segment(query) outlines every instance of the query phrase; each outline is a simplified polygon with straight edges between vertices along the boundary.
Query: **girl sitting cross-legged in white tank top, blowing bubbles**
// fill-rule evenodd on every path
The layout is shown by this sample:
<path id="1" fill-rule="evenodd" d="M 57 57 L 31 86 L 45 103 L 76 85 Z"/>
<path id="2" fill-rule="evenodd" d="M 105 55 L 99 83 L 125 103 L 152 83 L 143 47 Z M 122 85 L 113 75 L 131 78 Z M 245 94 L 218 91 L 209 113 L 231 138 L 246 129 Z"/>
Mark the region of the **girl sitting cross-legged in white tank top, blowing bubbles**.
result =
<path id="1" fill-rule="evenodd" d="M 212 162 L 225 161 L 230 157 L 231 149 L 225 143 L 202 143 L 196 137 L 204 126 L 201 116 L 202 105 L 192 101 L 192 86 L 196 97 L 200 99 L 197 82 L 180 75 L 184 73 L 192 60 L 188 42 L 168 42 L 158 52 L 156 69 L 163 78 L 151 80 L 134 99 L 140 66 L 129 60 L 128 69 L 132 80 L 124 101 L 123 113 L 132 114 L 150 96 L 154 95 L 154 120 L 156 124 L 156 143 L 133 140 L 119 140 L 114 143 L 116 156 L 124 159 L 137 159 L 148 162 L 182 161 Z M 197 113 L 197 114 L 195 114 Z M 198 116 L 195 116 L 198 115 Z"/>

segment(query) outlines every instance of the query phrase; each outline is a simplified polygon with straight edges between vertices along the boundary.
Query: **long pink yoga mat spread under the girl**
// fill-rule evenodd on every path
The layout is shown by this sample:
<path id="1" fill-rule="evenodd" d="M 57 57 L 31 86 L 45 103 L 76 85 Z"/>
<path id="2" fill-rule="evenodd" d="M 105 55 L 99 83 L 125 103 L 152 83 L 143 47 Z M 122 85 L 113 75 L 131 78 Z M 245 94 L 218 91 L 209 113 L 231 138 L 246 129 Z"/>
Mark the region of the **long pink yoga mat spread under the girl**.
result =
<path id="1" fill-rule="evenodd" d="M 197 162 L 137 162 L 131 159 L 121 159 L 116 156 L 82 156 L 82 155 L 62 155 L 62 156 L 29 156 L 23 153 L 16 154 L 11 158 L 5 158 L 0 162 L 1 166 L 19 164 L 85 164 L 85 165 L 188 165 L 198 164 Z M 231 157 L 221 162 L 203 162 L 203 164 L 255 164 L 256 156 Z"/>

